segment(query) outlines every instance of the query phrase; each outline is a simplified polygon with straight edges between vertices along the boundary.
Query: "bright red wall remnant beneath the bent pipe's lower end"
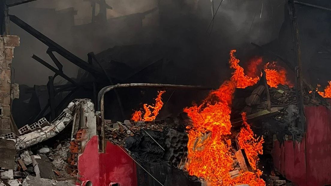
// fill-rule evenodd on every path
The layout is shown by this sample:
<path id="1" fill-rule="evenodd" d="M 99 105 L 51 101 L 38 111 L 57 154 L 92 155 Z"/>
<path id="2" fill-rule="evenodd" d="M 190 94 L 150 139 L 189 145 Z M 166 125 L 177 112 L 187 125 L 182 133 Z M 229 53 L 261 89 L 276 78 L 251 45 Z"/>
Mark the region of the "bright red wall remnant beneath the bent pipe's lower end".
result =
<path id="1" fill-rule="evenodd" d="M 105 153 L 99 153 L 98 136 L 93 136 L 78 157 L 79 180 L 90 180 L 93 186 L 108 186 L 117 182 L 121 186 L 137 186 L 134 161 L 118 146 L 109 141 Z"/>

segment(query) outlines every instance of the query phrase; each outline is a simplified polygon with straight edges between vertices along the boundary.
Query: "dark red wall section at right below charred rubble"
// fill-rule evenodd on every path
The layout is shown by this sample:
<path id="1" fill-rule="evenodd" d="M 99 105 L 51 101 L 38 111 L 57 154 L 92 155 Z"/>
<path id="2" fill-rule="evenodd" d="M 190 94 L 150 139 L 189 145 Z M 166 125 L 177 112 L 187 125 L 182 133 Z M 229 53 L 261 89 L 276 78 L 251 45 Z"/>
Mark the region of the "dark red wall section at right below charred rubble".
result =
<path id="1" fill-rule="evenodd" d="M 274 142 L 274 166 L 296 186 L 331 183 L 331 111 L 324 106 L 306 106 L 306 136 L 299 143 Z"/>

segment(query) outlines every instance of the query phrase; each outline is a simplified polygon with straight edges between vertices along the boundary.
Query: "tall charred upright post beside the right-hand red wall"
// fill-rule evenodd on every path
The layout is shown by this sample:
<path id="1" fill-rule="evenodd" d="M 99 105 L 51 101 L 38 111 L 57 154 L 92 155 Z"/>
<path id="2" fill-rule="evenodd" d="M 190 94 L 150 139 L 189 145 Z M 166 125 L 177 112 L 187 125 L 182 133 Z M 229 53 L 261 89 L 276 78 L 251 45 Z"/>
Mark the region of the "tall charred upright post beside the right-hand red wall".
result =
<path id="1" fill-rule="evenodd" d="M 300 114 L 300 124 L 299 128 L 305 130 L 305 113 L 304 113 L 304 101 L 303 101 L 303 78 L 302 78 L 302 59 L 301 59 L 301 48 L 300 48 L 300 35 L 299 26 L 297 21 L 297 16 L 294 7 L 294 1 L 289 0 L 288 11 L 290 16 L 290 24 L 293 38 L 293 48 L 296 51 L 297 67 L 296 67 L 296 90 L 299 102 L 299 114 Z"/>

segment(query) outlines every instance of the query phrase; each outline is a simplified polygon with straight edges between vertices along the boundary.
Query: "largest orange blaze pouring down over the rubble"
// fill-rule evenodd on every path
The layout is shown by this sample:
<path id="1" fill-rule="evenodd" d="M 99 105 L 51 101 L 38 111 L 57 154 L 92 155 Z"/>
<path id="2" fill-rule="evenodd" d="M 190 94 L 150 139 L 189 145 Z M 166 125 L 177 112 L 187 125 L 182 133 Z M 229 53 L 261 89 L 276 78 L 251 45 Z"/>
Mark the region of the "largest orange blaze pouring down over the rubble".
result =
<path id="1" fill-rule="evenodd" d="M 260 178 L 261 171 L 256 168 L 257 154 L 262 153 L 263 140 L 256 139 L 243 114 L 244 127 L 239 134 L 240 148 L 244 149 L 255 172 L 240 172 L 240 176 L 231 178 L 229 172 L 234 169 L 234 157 L 231 153 L 231 103 L 235 88 L 254 85 L 259 78 L 245 76 L 239 60 L 230 52 L 230 65 L 235 69 L 229 81 L 225 81 L 218 90 L 212 91 L 201 105 L 184 108 L 191 117 L 193 126 L 187 127 L 189 141 L 188 163 L 186 168 L 191 175 L 203 177 L 213 186 L 249 184 L 265 186 Z M 212 101 L 213 100 L 213 101 Z M 216 100 L 216 101 L 215 101 Z M 243 136 L 247 135 L 247 136 Z M 255 151 L 255 152 L 254 152 Z"/>

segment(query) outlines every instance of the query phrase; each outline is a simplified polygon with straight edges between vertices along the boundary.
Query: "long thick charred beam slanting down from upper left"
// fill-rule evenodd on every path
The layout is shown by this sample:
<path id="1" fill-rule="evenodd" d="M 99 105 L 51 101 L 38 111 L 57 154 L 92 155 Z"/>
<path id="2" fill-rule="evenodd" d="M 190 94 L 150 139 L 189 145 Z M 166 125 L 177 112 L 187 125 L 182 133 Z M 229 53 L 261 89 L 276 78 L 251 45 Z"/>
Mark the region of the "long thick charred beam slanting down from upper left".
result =
<path id="1" fill-rule="evenodd" d="M 73 64 L 77 65 L 78 67 L 86 70 L 87 72 L 90 72 L 95 78 L 104 78 L 104 76 L 100 76 L 100 72 L 92 65 L 88 64 L 86 61 L 82 60 L 81 58 L 75 56 L 59 44 L 55 43 L 50 38 L 46 37 L 44 34 L 40 33 L 38 30 L 34 29 L 32 26 L 28 25 L 23 20 L 19 19 L 18 17 L 14 15 L 9 15 L 10 20 L 24 29 L 26 32 L 37 38 L 39 41 L 47 45 L 49 48 L 54 50 L 53 52 L 57 52 L 64 58 L 68 59 Z"/>

